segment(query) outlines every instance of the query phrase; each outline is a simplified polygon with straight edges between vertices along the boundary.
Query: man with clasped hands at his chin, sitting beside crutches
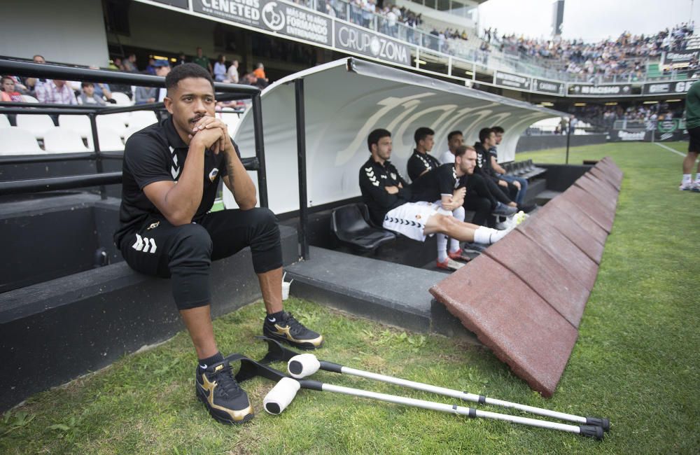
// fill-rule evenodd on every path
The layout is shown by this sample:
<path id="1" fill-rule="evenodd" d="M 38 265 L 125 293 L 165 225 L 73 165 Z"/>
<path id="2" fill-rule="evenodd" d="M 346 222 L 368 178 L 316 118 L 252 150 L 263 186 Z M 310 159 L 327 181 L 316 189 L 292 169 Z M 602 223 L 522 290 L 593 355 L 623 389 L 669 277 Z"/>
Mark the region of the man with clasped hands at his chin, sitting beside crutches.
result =
<path id="1" fill-rule="evenodd" d="M 307 349 L 321 346 L 323 337 L 282 309 L 277 220 L 272 211 L 255 208 L 255 186 L 238 147 L 214 118 L 211 76 L 196 64 L 182 64 L 165 85 L 171 115 L 126 144 L 115 241 L 133 269 L 172 278 L 175 303 L 199 358 L 197 397 L 216 420 L 240 423 L 253 417 L 253 407 L 216 346 L 209 311 L 211 261 L 250 246 L 267 309 L 262 332 Z M 219 179 L 240 209 L 208 213 Z"/>

